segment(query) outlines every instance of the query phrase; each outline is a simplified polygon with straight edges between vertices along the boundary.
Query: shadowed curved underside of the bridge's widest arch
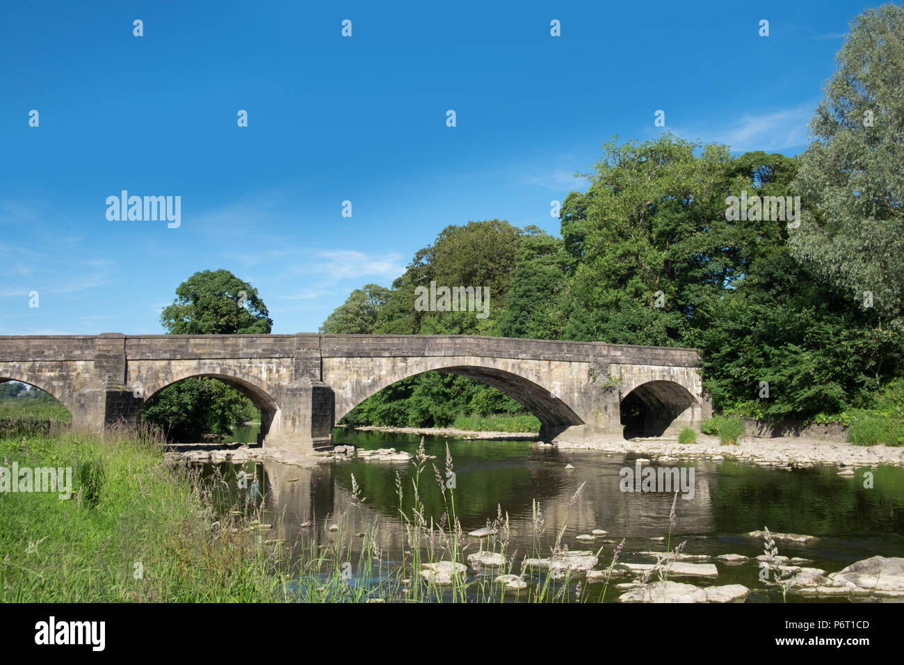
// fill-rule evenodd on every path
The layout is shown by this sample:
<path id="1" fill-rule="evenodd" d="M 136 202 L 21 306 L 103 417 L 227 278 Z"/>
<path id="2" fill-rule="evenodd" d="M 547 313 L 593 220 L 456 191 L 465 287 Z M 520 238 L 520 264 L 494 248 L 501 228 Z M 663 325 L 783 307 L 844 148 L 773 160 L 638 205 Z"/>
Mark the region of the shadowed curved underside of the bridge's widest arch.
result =
<path id="1" fill-rule="evenodd" d="M 572 425 L 584 423 L 579 415 L 559 397 L 551 394 L 545 387 L 534 383 L 522 375 L 513 374 L 512 372 L 507 372 L 502 369 L 494 369 L 493 367 L 463 365 L 431 367 L 410 374 L 393 375 L 386 381 L 370 385 L 369 389 L 364 391 L 363 394 L 355 395 L 355 404 L 347 407 L 344 413 L 339 413 L 339 409 L 336 410 L 335 421 L 339 422 L 345 415 L 350 413 L 354 407 L 363 403 L 368 397 L 379 393 L 382 389 L 397 384 L 402 379 L 409 378 L 410 376 L 423 375 L 428 372 L 441 372 L 466 376 L 481 384 L 490 385 L 501 393 L 513 398 L 518 403 L 523 404 L 525 409 L 540 420 L 541 440 L 551 439 Z"/>

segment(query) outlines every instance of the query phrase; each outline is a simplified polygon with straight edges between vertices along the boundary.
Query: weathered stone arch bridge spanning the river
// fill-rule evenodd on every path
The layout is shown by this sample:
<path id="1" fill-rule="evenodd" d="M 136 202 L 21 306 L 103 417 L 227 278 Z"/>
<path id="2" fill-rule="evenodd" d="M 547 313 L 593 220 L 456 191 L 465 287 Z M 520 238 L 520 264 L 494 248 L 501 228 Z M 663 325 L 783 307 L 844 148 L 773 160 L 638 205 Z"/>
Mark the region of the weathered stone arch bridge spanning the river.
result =
<path id="1" fill-rule="evenodd" d="M 493 385 L 541 421 L 541 439 L 622 436 L 620 407 L 645 405 L 647 433 L 711 413 L 693 349 L 460 335 L 0 336 L 0 382 L 52 394 L 73 423 L 137 420 L 166 385 L 212 376 L 261 411 L 265 445 L 321 448 L 334 424 L 401 379 L 438 370 Z"/>

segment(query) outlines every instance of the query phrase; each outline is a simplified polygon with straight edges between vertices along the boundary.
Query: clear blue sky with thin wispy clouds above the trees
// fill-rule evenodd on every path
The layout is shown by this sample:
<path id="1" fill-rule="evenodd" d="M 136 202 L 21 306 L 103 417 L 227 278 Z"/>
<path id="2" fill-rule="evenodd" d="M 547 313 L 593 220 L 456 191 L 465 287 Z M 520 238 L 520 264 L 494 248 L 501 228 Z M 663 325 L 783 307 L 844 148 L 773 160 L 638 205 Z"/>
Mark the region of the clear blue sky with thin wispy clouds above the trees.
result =
<path id="1" fill-rule="evenodd" d="M 0 334 L 161 333 L 176 286 L 219 268 L 273 332 L 315 332 L 448 224 L 558 234 L 551 201 L 608 138 L 664 131 L 657 109 L 680 137 L 794 155 L 876 6 L 325 5 L 4 0 Z M 108 221 L 124 189 L 181 196 L 179 228 Z"/>

